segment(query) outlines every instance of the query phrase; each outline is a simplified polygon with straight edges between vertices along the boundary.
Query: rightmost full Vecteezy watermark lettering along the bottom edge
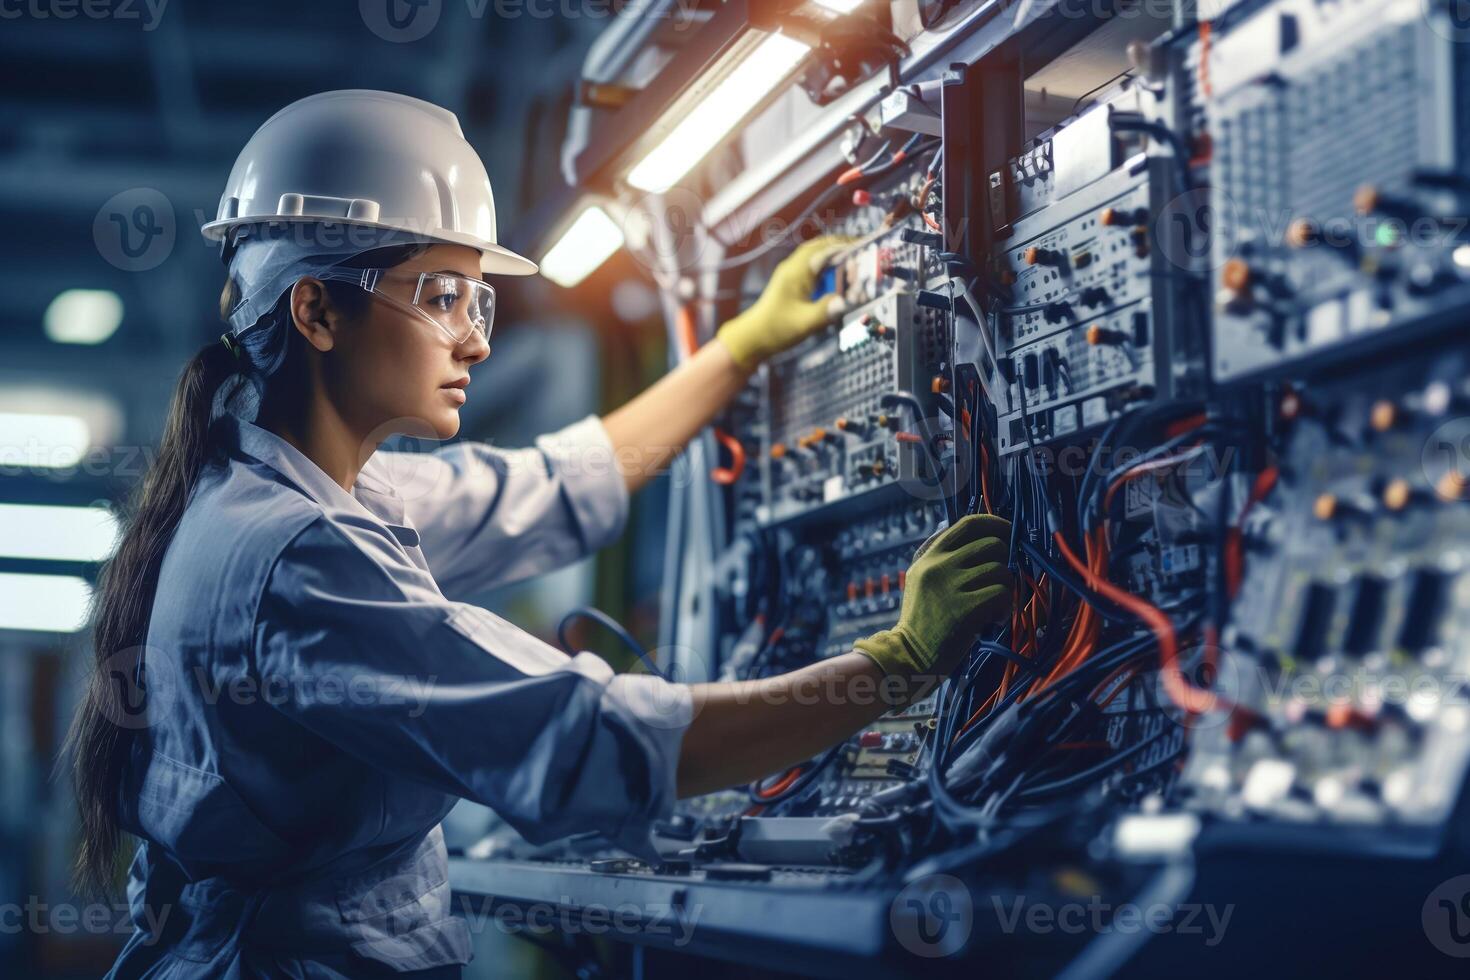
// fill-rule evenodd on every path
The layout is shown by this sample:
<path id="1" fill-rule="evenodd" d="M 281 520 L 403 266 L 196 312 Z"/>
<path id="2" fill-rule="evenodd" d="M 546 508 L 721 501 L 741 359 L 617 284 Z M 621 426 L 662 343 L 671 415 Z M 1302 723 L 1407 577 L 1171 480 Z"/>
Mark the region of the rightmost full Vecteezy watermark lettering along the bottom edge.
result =
<path id="1" fill-rule="evenodd" d="M 1219 907 L 1210 902 L 1136 902 L 1111 904 L 1094 895 L 1086 902 L 1033 902 L 1025 895 L 1004 899 L 991 896 L 991 908 L 1001 932 L 1007 936 L 1028 932 L 1038 936 L 1064 933 L 1104 934 L 1141 932 L 1163 936 L 1201 936 L 1205 946 L 1219 946 L 1235 915 L 1235 904 Z"/>

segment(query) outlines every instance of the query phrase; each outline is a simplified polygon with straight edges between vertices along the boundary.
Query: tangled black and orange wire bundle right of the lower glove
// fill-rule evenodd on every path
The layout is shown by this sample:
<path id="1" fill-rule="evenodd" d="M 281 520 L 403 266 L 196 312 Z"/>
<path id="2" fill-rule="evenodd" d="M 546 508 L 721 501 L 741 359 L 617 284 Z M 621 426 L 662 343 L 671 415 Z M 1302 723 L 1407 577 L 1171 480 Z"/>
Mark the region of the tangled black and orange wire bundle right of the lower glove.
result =
<path id="1" fill-rule="evenodd" d="M 985 840 L 1075 810 L 1102 785 L 1113 795 L 1158 786 L 1185 751 L 1185 729 L 1175 720 L 1233 708 L 1180 667 L 1185 641 L 1204 641 L 1204 655 L 1211 655 L 1216 624 L 1238 588 L 1239 560 L 1230 572 L 1229 555 L 1238 554 L 1244 513 L 1226 520 L 1229 472 L 1211 475 L 1220 491 L 1216 516 L 1188 504 L 1214 535 L 1216 554 L 1226 555 L 1225 572 L 1167 608 L 1117 585 L 1119 557 L 1139 548 L 1123 541 L 1117 511 L 1127 483 L 1176 480 L 1207 448 L 1239 448 L 1245 429 L 1198 406 L 1141 408 L 1101 435 L 1080 480 L 1044 473 L 1028 444 L 1001 482 L 992 479 L 982 404 L 970 385 L 957 389 L 957 404 L 967 413 L 966 441 L 976 444 L 972 473 L 980 492 L 972 494 L 970 510 L 1008 510 L 1017 595 L 1011 620 L 976 641 L 947 685 L 925 789 L 945 830 L 961 839 L 979 832 Z M 1104 451 L 1133 441 L 1152 448 L 1104 467 Z M 1247 507 L 1272 482 L 1270 473 L 1258 478 Z M 1008 500 L 995 500 L 995 486 Z M 1188 500 L 1188 488 L 1179 491 Z M 1110 727 L 1104 713 L 1130 688 L 1145 710 L 1130 710 Z M 1164 704 L 1155 696 L 1160 688 Z"/>

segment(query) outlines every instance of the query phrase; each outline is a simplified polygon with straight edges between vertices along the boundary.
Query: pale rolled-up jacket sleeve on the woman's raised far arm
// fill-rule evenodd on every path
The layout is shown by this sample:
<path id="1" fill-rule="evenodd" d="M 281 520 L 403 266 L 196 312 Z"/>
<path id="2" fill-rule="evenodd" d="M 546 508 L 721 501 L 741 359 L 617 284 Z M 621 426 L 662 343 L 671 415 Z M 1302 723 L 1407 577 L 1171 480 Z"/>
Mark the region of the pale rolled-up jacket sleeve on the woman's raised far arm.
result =
<path id="1" fill-rule="evenodd" d="M 551 572 L 613 542 L 628 488 L 601 419 L 587 416 L 525 450 L 456 442 L 378 453 L 365 473 L 392 488 L 445 595 Z"/>

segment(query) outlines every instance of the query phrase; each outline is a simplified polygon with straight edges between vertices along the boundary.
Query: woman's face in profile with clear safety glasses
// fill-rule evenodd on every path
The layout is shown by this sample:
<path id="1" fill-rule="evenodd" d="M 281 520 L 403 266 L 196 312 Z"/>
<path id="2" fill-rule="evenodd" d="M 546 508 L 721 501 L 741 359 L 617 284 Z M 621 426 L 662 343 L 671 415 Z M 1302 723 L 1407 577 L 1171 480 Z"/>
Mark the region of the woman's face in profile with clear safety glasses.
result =
<path id="1" fill-rule="evenodd" d="M 479 253 L 465 245 L 434 245 L 390 269 L 378 289 L 409 307 L 422 272 L 478 279 Z M 454 295 L 445 292 L 444 285 L 426 281 L 420 309 L 454 306 Z M 460 319 L 465 306 L 462 297 Z M 359 432 L 378 439 L 395 432 L 448 439 L 460 428 L 469 369 L 488 356 L 490 342 L 481 331 L 472 329 L 456 342 L 409 309 L 370 295 L 362 317 L 337 331 L 332 354 L 322 361 L 322 382 L 332 404 Z"/>

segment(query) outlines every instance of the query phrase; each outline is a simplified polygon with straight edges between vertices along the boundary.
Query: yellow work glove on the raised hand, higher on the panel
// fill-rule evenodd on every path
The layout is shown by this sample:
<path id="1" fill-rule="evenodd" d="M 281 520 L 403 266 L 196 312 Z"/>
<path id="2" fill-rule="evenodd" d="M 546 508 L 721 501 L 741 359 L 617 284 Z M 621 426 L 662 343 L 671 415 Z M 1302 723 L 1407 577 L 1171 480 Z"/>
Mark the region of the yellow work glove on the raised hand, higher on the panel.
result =
<path id="1" fill-rule="evenodd" d="M 776 266 L 760 298 L 716 334 L 736 364 L 754 370 L 841 316 L 842 300 L 835 292 L 813 300 L 811 289 L 828 260 L 854 241 L 847 235 L 813 238 Z"/>

